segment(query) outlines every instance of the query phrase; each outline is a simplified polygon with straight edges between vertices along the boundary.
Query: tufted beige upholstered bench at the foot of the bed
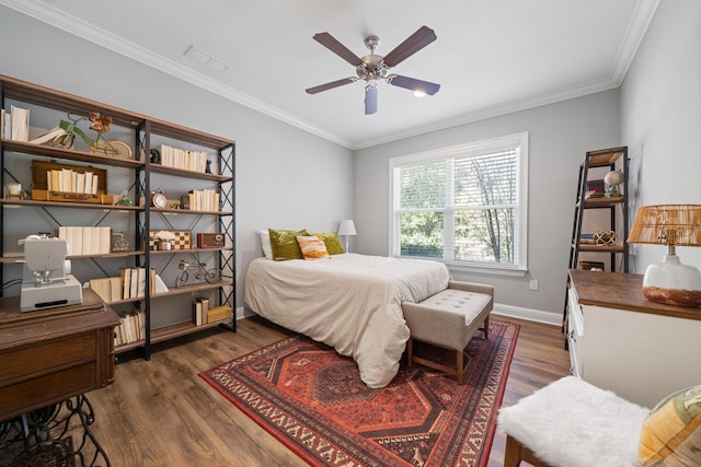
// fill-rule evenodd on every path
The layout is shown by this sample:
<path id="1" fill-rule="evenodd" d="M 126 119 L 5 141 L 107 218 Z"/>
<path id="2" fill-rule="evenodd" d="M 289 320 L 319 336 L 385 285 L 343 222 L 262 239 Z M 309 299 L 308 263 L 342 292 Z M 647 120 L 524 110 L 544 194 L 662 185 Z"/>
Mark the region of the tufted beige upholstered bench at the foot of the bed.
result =
<path id="1" fill-rule="evenodd" d="M 420 303 L 402 303 L 404 319 L 411 332 L 406 345 L 409 364 L 420 363 L 455 375 L 463 383 L 464 348 L 478 330 L 489 339 L 490 313 L 494 304 L 492 285 L 450 281 L 448 289 Z M 414 340 L 456 351 L 456 367 L 414 354 Z"/>

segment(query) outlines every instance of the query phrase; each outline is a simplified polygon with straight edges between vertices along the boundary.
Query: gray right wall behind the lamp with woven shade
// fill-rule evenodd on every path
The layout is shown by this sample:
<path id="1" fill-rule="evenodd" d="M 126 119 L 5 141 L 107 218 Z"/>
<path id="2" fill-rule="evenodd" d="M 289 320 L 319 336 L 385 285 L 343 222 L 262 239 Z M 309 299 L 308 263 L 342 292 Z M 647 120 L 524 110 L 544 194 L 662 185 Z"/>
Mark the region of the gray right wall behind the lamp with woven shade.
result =
<path id="1" fill-rule="evenodd" d="M 701 203 L 701 1 L 663 0 L 621 86 L 621 140 L 640 166 L 637 206 Z M 666 249 L 633 245 L 643 273 Z M 701 267 L 701 248 L 678 247 Z"/>

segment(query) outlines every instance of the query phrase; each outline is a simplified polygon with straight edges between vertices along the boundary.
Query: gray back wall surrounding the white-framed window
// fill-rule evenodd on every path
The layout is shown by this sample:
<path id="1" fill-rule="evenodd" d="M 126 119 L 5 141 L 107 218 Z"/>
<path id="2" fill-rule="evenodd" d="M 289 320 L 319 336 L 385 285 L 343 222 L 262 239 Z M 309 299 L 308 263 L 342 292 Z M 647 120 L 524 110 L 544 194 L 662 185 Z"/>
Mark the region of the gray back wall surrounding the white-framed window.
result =
<path id="1" fill-rule="evenodd" d="M 495 285 L 501 313 L 558 323 L 562 316 L 578 167 L 586 151 L 619 144 L 619 93 L 611 90 L 530 110 L 356 151 L 358 253 L 389 254 L 389 159 L 529 132 L 528 275 L 513 278 L 453 271 Z M 530 291 L 530 279 L 539 290 Z"/>

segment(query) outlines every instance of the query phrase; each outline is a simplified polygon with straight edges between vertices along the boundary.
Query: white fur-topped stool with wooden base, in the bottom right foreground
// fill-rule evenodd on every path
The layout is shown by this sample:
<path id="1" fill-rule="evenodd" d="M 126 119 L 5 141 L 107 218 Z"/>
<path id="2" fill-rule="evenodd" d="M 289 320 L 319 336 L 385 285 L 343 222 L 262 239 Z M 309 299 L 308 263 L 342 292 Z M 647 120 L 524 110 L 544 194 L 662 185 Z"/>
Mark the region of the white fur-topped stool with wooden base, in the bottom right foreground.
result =
<path id="1" fill-rule="evenodd" d="M 499 410 L 504 467 L 630 467 L 650 410 L 575 376 L 565 376 Z"/>

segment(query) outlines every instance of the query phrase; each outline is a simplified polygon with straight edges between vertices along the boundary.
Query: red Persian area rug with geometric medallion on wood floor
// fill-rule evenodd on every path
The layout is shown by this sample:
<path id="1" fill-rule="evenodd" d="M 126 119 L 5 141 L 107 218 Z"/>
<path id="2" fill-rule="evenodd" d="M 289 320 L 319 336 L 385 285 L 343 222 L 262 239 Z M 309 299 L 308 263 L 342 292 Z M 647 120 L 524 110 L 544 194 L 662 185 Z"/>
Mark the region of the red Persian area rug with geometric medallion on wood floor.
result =
<path id="1" fill-rule="evenodd" d="M 462 386 L 402 362 L 388 386 L 371 389 L 353 359 L 303 336 L 199 376 L 312 466 L 485 466 L 518 330 L 491 320 L 489 340 L 478 332 Z"/>

